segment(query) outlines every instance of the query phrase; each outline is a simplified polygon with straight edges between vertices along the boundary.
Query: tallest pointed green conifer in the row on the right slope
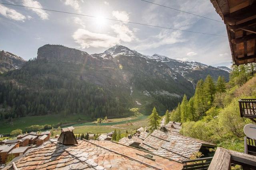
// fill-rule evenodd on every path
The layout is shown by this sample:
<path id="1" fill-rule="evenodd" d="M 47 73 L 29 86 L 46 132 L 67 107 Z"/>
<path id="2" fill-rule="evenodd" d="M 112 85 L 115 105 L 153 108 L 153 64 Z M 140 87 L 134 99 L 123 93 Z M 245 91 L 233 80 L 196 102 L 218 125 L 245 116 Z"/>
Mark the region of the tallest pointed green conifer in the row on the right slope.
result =
<path id="1" fill-rule="evenodd" d="M 212 76 L 208 75 L 204 81 L 204 89 L 206 96 L 208 98 L 208 103 L 212 104 L 214 100 L 214 94 L 216 92 L 216 87 L 214 81 L 212 80 Z M 207 104 L 208 104 L 207 103 Z"/>

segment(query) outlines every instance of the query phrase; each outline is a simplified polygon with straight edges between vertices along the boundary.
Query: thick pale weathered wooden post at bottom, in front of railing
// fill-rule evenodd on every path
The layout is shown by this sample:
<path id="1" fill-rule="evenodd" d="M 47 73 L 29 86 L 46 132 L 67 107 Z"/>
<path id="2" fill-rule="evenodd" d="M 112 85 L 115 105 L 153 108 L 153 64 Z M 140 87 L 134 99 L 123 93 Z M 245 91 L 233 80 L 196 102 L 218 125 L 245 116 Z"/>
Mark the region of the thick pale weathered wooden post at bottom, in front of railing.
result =
<path id="1" fill-rule="evenodd" d="M 208 170 L 229 170 L 230 164 L 230 153 L 226 149 L 218 147 Z"/>

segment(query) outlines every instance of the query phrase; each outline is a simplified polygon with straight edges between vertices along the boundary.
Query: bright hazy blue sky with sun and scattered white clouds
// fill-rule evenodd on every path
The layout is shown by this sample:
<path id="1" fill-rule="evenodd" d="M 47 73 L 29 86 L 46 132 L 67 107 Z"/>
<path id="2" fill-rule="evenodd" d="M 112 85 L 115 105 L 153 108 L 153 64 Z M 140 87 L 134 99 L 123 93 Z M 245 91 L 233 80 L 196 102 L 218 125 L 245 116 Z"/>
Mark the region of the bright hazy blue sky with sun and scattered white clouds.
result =
<path id="1" fill-rule="evenodd" d="M 148 0 L 222 21 L 210 0 Z M 157 6 L 142 0 L 0 0 L 3 3 L 96 16 L 90 18 L 0 4 L 0 49 L 25 60 L 45 44 L 102 53 L 118 44 L 144 55 L 165 55 L 211 66 L 230 66 L 224 23 Z M 118 21 L 171 27 L 204 35 Z"/>

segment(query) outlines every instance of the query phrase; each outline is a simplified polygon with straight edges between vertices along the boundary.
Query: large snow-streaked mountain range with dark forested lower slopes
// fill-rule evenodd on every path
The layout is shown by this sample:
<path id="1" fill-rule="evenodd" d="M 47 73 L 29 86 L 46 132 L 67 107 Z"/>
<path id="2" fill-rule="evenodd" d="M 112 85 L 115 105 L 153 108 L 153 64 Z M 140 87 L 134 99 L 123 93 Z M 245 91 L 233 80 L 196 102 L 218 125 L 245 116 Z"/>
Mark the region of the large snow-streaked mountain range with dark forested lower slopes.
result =
<path id="1" fill-rule="evenodd" d="M 0 54 L 0 59 L 11 55 Z M 13 56 L 18 57 L 9 58 Z M 5 118 L 58 112 L 117 116 L 131 107 L 140 107 L 142 113 L 154 106 L 165 111 L 174 109 L 184 94 L 191 97 L 196 82 L 208 74 L 214 80 L 229 76 L 224 67 L 142 55 L 122 45 L 92 55 L 44 45 L 36 59 L 26 63 L 18 59 L 20 63 L 8 60 L 12 66 L 7 68 L 1 64 L 2 70 L 9 70 L 0 76 L 0 103 L 8 108 L 2 113 Z"/>

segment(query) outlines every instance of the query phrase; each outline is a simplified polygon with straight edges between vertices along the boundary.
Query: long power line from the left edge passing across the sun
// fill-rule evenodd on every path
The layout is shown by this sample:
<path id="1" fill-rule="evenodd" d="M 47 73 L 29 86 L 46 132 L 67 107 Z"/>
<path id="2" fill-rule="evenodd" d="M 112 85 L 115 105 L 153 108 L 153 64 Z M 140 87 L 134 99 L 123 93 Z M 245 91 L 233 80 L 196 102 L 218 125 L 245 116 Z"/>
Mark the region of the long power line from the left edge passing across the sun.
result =
<path id="1" fill-rule="evenodd" d="M 38 9 L 38 10 L 52 11 L 52 12 L 60 12 L 60 13 L 65 13 L 65 14 L 73 14 L 73 15 L 78 15 L 78 16 L 86 16 L 86 17 L 91 17 L 91 18 L 98 18 L 98 17 L 96 17 L 96 16 L 91 16 L 91 15 L 86 15 L 86 14 L 78 14 L 78 13 L 65 12 L 65 11 L 50 10 L 50 9 L 45 9 L 45 8 L 36 8 L 36 7 L 31 7 L 31 6 L 22 6 L 22 5 L 15 5 L 15 4 L 7 4 L 7 3 L 2 3 L 2 2 L 0 2 L 0 4 L 11 5 L 11 6 L 20 6 L 20 7 L 25 7 L 25 8 L 33 8 L 33 9 Z M 176 31 L 185 31 L 185 32 L 190 32 L 190 33 L 199 33 L 199 34 L 205 34 L 205 35 L 215 35 L 215 36 L 220 36 L 220 37 L 227 37 L 227 36 L 225 36 L 225 35 L 218 35 L 218 34 L 212 34 L 212 33 L 203 33 L 203 32 L 196 32 L 196 31 L 189 31 L 189 30 L 184 30 L 184 29 L 176 29 L 176 28 L 171 28 L 171 27 L 150 25 L 150 24 L 138 23 L 138 22 L 131 22 L 131 21 L 122 21 L 122 20 L 116 20 L 116 19 L 111 19 L 111 18 L 102 18 L 102 19 L 104 19 L 104 20 L 110 20 L 110 21 L 124 22 L 124 23 L 133 23 L 133 24 L 137 24 L 137 25 L 146 25 L 146 26 L 150 26 L 150 27 L 158 27 L 158 28 L 164 28 L 164 29 L 172 29 L 172 30 L 176 30 Z"/>

